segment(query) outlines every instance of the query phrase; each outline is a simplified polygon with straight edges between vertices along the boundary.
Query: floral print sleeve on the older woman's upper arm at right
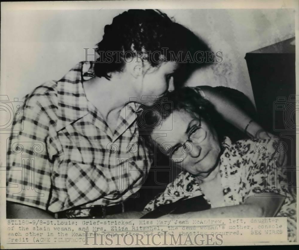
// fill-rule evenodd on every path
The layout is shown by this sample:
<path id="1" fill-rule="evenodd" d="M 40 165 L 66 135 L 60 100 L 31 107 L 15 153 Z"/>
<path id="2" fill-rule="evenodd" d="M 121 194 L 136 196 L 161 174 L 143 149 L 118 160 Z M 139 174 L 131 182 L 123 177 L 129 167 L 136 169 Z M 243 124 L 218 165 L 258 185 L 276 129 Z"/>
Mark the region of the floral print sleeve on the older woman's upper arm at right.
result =
<path id="1" fill-rule="evenodd" d="M 277 193 L 286 196 L 287 190 L 283 184 L 287 184 L 287 175 L 284 170 L 286 153 L 284 142 L 271 140 L 248 140 L 248 153 L 242 161 L 248 165 L 243 169 L 243 186 L 245 187 L 244 199 L 249 196 L 263 193 Z M 279 166 L 279 158 L 282 157 L 283 166 Z"/>

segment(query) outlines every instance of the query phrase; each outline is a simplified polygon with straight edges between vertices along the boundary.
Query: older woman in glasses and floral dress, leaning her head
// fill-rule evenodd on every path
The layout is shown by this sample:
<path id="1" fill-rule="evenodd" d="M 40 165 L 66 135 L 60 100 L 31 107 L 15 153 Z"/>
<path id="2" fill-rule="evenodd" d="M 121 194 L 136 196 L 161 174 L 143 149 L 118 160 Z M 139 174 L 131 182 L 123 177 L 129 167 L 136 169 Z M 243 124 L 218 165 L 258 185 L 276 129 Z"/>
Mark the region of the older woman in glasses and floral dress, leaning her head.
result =
<path id="1" fill-rule="evenodd" d="M 167 103 L 145 109 L 139 124 L 147 125 L 144 136 L 154 153 L 167 156 L 179 175 L 145 210 L 176 203 L 183 208 L 168 211 L 176 218 L 288 217 L 289 240 L 295 240 L 295 195 L 281 185 L 288 183 L 279 168 L 286 165 L 283 142 L 272 138 L 232 143 L 221 136 L 219 116 L 196 90 L 173 91 L 167 98 Z M 165 108 L 170 103 L 171 110 Z M 196 202 L 178 203 L 197 196 L 208 206 L 196 210 Z"/>

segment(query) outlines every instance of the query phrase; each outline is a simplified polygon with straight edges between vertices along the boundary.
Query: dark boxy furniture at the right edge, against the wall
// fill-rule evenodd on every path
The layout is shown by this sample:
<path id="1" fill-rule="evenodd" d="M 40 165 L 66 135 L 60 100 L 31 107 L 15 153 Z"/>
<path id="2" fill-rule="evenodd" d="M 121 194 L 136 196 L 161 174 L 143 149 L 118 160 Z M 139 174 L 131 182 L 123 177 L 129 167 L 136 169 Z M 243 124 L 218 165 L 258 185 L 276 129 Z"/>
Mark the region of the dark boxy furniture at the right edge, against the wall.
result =
<path id="1" fill-rule="evenodd" d="M 288 167 L 296 167 L 295 37 L 246 53 L 245 60 L 260 124 L 288 147 Z M 297 99 L 297 100 L 296 100 Z M 290 173 L 295 186 L 295 171 Z"/>

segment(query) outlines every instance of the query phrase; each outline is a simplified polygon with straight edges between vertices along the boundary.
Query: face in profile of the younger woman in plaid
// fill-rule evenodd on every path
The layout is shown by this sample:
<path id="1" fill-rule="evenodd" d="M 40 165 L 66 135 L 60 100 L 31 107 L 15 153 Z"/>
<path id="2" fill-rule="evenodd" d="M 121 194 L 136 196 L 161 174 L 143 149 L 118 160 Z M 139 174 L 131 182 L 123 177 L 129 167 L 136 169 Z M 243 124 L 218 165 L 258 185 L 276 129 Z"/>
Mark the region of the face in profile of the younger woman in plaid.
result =
<path id="1" fill-rule="evenodd" d="M 140 90 L 143 100 L 156 100 L 164 96 L 168 90 L 173 90 L 172 75 L 178 66 L 179 64 L 175 62 L 164 62 L 158 67 L 147 68 Z"/>

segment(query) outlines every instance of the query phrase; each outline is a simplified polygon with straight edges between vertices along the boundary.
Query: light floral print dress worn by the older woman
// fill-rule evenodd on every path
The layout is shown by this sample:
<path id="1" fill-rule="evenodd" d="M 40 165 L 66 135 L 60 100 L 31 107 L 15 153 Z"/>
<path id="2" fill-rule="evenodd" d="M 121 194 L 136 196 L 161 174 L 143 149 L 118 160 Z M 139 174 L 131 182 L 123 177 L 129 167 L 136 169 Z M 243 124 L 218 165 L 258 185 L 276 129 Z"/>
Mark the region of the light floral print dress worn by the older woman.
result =
<path id="1" fill-rule="evenodd" d="M 228 137 L 222 143 L 219 174 L 224 202 L 220 207 L 243 204 L 249 196 L 263 196 L 271 192 L 286 196 L 276 216 L 287 217 L 288 240 L 296 241 L 296 194 L 283 184 L 289 183 L 286 171 L 278 165 L 283 145 L 277 141 L 248 139 L 232 143 Z M 181 172 L 168 184 L 164 193 L 151 200 L 144 210 L 152 211 L 159 205 L 178 201 L 182 197 L 204 195 L 200 184 L 188 172 Z M 257 197 L 258 199 L 258 197 Z M 216 207 L 208 199 L 211 208 Z M 219 207 L 219 205 L 218 205 Z"/>

